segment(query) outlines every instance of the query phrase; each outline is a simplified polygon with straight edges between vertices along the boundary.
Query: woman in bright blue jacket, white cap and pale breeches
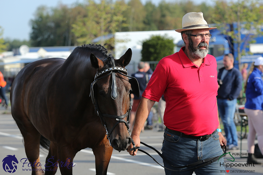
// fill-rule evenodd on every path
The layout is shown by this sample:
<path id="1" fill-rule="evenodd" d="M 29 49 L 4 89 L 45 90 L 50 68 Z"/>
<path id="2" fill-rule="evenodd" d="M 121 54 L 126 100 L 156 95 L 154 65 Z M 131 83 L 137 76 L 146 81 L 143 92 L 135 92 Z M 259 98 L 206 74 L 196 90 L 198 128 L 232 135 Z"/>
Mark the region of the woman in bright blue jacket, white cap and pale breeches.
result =
<path id="1" fill-rule="evenodd" d="M 253 65 L 251 65 L 253 66 Z M 258 57 L 254 62 L 254 69 L 249 75 L 245 85 L 246 103 L 245 113 L 248 115 L 248 153 L 254 153 L 255 138 L 257 133 L 258 146 L 263 154 L 263 57 Z M 248 156 L 247 163 L 261 164 L 253 154 Z"/>

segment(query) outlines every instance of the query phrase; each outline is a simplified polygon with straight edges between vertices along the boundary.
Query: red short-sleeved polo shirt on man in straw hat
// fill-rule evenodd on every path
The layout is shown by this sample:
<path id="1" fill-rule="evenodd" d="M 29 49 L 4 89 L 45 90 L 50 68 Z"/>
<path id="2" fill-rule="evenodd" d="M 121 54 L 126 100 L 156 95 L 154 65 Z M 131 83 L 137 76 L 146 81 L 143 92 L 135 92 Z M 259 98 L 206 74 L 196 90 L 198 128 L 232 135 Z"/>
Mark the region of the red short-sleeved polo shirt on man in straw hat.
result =
<path id="1" fill-rule="evenodd" d="M 164 94 L 163 121 L 169 129 L 194 136 L 211 134 L 218 127 L 216 59 L 207 55 L 199 68 L 184 49 L 159 61 L 142 96 L 158 102 Z"/>

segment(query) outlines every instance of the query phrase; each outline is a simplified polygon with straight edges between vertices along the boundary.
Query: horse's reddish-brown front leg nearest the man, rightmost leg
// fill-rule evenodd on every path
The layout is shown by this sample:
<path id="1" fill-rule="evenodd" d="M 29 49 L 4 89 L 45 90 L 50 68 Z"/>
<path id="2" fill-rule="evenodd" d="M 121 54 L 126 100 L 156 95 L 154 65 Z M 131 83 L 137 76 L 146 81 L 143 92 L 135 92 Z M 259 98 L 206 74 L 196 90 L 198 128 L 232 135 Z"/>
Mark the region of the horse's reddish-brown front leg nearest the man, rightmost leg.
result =
<path id="1" fill-rule="evenodd" d="M 109 144 L 109 140 L 104 138 L 104 141 L 93 149 L 95 155 L 96 175 L 106 175 L 110 157 L 113 148 Z"/>

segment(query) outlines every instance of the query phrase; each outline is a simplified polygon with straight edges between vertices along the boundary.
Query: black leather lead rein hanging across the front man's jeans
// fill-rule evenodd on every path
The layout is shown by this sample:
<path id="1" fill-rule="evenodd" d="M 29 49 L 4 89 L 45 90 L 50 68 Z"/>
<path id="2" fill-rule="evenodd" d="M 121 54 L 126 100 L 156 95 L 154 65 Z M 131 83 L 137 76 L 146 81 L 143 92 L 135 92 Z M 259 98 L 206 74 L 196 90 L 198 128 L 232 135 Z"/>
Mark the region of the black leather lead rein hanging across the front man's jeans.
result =
<path id="1" fill-rule="evenodd" d="M 143 144 L 144 146 L 148 147 L 148 148 L 153 149 L 155 152 L 157 152 L 157 153 L 159 154 L 160 157 L 162 157 L 162 159 L 163 159 L 164 161 L 169 162 L 169 161 L 167 161 L 167 160 L 163 157 L 163 155 L 162 155 L 157 149 L 155 149 L 155 148 L 153 148 L 152 146 L 147 145 L 147 144 L 145 144 L 145 143 L 143 143 L 143 142 L 140 142 L 140 143 Z M 184 165 L 184 166 L 179 166 L 179 167 L 174 166 L 174 165 L 171 165 L 171 164 L 169 163 L 171 166 L 173 166 L 173 167 L 175 167 L 175 168 L 188 168 L 188 169 L 183 169 L 183 170 L 174 170 L 174 169 L 166 168 L 166 167 L 164 167 L 163 165 L 161 165 L 161 164 L 160 164 L 159 162 L 157 162 L 148 152 L 146 152 L 146 151 L 144 151 L 144 150 L 142 150 L 142 149 L 139 149 L 140 147 L 135 147 L 135 143 L 134 143 L 133 139 L 131 139 L 131 144 L 133 145 L 133 148 L 131 148 L 130 151 L 133 150 L 133 151 L 135 152 L 136 149 L 138 149 L 138 151 L 143 152 L 143 153 L 145 153 L 146 155 L 150 156 L 157 164 L 159 164 L 159 165 L 162 166 L 163 168 L 168 169 L 168 170 L 170 170 L 170 171 L 176 171 L 176 172 L 179 172 L 179 171 L 188 171 L 188 170 L 191 170 L 191 169 L 197 169 L 197 168 L 200 168 L 200 167 L 209 165 L 209 164 L 215 162 L 216 160 L 219 160 L 221 157 L 225 157 L 225 156 L 226 156 L 226 145 L 223 145 L 223 146 L 221 146 L 221 148 L 222 148 L 222 150 L 223 150 L 223 152 L 224 152 L 224 154 L 223 154 L 222 156 L 216 156 L 216 157 L 208 158 L 208 159 L 205 159 L 205 160 L 199 160 L 199 161 L 197 161 L 197 162 L 195 162 L 195 163 L 192 163 L 192 164 L 189 164 L 189 165 Z M 225 150 L 224 150 L 224 146 L 225 146 Z M 199 165 L 199 164 L 202 164 L 202 165 Z M 196 165 L 199 165 L 199 166 L 196 166 Z"/>

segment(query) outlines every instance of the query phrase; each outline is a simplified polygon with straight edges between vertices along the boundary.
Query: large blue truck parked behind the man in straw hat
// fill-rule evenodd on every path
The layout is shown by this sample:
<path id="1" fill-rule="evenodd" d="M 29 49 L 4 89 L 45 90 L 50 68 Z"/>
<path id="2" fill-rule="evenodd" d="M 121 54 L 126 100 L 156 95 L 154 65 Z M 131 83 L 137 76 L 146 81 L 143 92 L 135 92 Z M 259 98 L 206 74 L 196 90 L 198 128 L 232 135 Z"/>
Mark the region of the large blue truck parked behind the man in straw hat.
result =
<path id="1" fill-rule="evenodd" d="M 213 24 L 213 26 L 216 25 Z M 229 30 L 235 31 L 237 34 L 237 23 L 229 24 L 227 25 L 227 28 Z M 261 31 L 263 31 L 263 25 L 261 25 Z M 212 34 L 212 37 L 209 41 L 209 54 L 216 58 L 218 69 L 223 67 L 223 57 L 228 53 L 232 53 L 234 55 L 234 66 L 239 69 L 237 43 L 235 43 L 230 36 L 223 35 L 218 28 L 210 30 L 210 33 Z M 244 49 L 246 52 L 246 55 L 241 56 L 241 64 L 248 63 L 250 65 L 257 57 L 263 56 L 263 36 L 257 34 L 253 29 L 248 31 L 244 28 L 241 28 L 240 33 L 241 40 L 243 40 L 245 37 L 251 36 L 253 40 L 255 40 L 255 43 L 253 44 L 249 44 L 248 39 L 240 45 L 241 50 Z M 256 35 L 256 37 L 253 37 L 254 35 Z M 177 44 L 177 47 L 179 48 L 182 46 L 184 46 L 183 40 L 179 41 Z"/>

